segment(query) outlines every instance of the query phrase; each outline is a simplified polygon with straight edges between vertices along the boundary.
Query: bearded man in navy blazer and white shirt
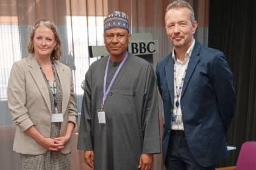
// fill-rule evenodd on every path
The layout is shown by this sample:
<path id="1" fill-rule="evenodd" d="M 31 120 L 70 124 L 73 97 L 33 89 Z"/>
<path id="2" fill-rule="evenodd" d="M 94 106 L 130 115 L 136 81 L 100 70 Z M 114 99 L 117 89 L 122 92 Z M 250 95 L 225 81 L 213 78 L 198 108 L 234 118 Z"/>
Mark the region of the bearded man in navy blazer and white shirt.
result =
<path id="1" fill-rule="evenodd" d="M 233 76 L 224 53 L 199 44 L 197 21 L 186 1 L 166 8 L 172 53 L 157 64 L 165 126 L 166 169 L 215 169 L 227 156 L 226 133 L 235 110 Z"/>

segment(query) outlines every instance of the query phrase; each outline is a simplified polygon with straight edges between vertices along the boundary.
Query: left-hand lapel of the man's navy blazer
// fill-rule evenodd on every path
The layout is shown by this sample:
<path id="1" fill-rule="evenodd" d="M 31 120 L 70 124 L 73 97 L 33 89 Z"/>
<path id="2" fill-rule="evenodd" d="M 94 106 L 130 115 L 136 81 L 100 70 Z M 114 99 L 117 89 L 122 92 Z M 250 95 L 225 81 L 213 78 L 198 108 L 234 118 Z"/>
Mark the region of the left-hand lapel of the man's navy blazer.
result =
<path id="1" fill-rule="evenodd" d="M 169 90 L 169 94 L 171 96 L 171 104 L 173 105 L 174 103 L 174 77 L 173 77 L 173 66 L 174 66 L 174 62 L 172 60 L 171 55 L 169 55 L 168 57 L 168 61 L 166 62 L 165 65 L 165 75 L 166 75 L 166 81 L 167 81 L 167 85 L 168 85 L 168 90 Z"/>

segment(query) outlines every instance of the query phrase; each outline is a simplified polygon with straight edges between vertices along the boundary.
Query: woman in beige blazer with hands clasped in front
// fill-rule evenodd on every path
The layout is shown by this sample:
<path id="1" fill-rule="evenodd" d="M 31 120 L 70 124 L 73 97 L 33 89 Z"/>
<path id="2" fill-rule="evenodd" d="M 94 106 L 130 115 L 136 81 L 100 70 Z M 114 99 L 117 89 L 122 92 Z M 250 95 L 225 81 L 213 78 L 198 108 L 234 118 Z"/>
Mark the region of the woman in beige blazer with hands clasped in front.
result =
<path id="1" fill-rule="evenodd" d="M 13 151 L 20 153 L 23 169 L 69 169 L 77 105 L 71 69 L 58 61 L 60 44 L 54 23 L 37 21 L 29 57 L 15 62 L 10 72 Z"/>

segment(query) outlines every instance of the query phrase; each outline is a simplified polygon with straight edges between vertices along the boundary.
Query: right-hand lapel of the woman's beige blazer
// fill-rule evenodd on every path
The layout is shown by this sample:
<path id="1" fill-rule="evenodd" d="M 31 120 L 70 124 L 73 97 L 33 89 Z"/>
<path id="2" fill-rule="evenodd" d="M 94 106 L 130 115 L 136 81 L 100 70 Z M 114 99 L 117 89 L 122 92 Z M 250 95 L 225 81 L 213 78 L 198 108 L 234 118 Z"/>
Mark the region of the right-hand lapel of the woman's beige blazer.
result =
<path id="1" fill-rule="evenodd" d="M 55 67 L 57 69 L 57 74 L 60 80 L 60 85 L 62 86 L 62 112 L 66 112 L 66 106 L 68 105 L 69 101 L 69 78 L 68 72 L 65 67 L 62 67 L 62 65 L 59 62 L 54 62 Z"/>

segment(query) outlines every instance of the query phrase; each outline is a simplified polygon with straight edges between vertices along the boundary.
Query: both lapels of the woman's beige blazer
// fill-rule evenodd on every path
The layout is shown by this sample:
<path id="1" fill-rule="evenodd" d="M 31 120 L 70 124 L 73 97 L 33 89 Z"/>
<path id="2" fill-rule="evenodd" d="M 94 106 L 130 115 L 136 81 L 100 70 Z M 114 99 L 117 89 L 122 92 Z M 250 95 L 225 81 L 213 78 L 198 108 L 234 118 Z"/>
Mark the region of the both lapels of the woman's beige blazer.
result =
<path id="1" fill-rule="evenodd" d="M 37 60 L 34 56 L 27 57 L 27 64 L 29 66 L 29 72 L 31 73 L 35 84 L 37 84 L 38 89 L 41 92 L 41 95 L 44 98 L 44 101 L 51 112 L 51 101 L 49 97 L 48 88 L 45 86 L 43 74 L 40 70 L 40 64 L 38 64 Z M 54 61 L 54 65 L 57 70 L 57 74 L 60 80 L 60 84 L 62 86 L 62 112 L 65 112 L 66 106 L 68 105 L 69 97 L 70 97 L 70 88 L 71 88 L 71 73 L 68 72 L 68 66 L 65 66 L 59 61 Z"/>

